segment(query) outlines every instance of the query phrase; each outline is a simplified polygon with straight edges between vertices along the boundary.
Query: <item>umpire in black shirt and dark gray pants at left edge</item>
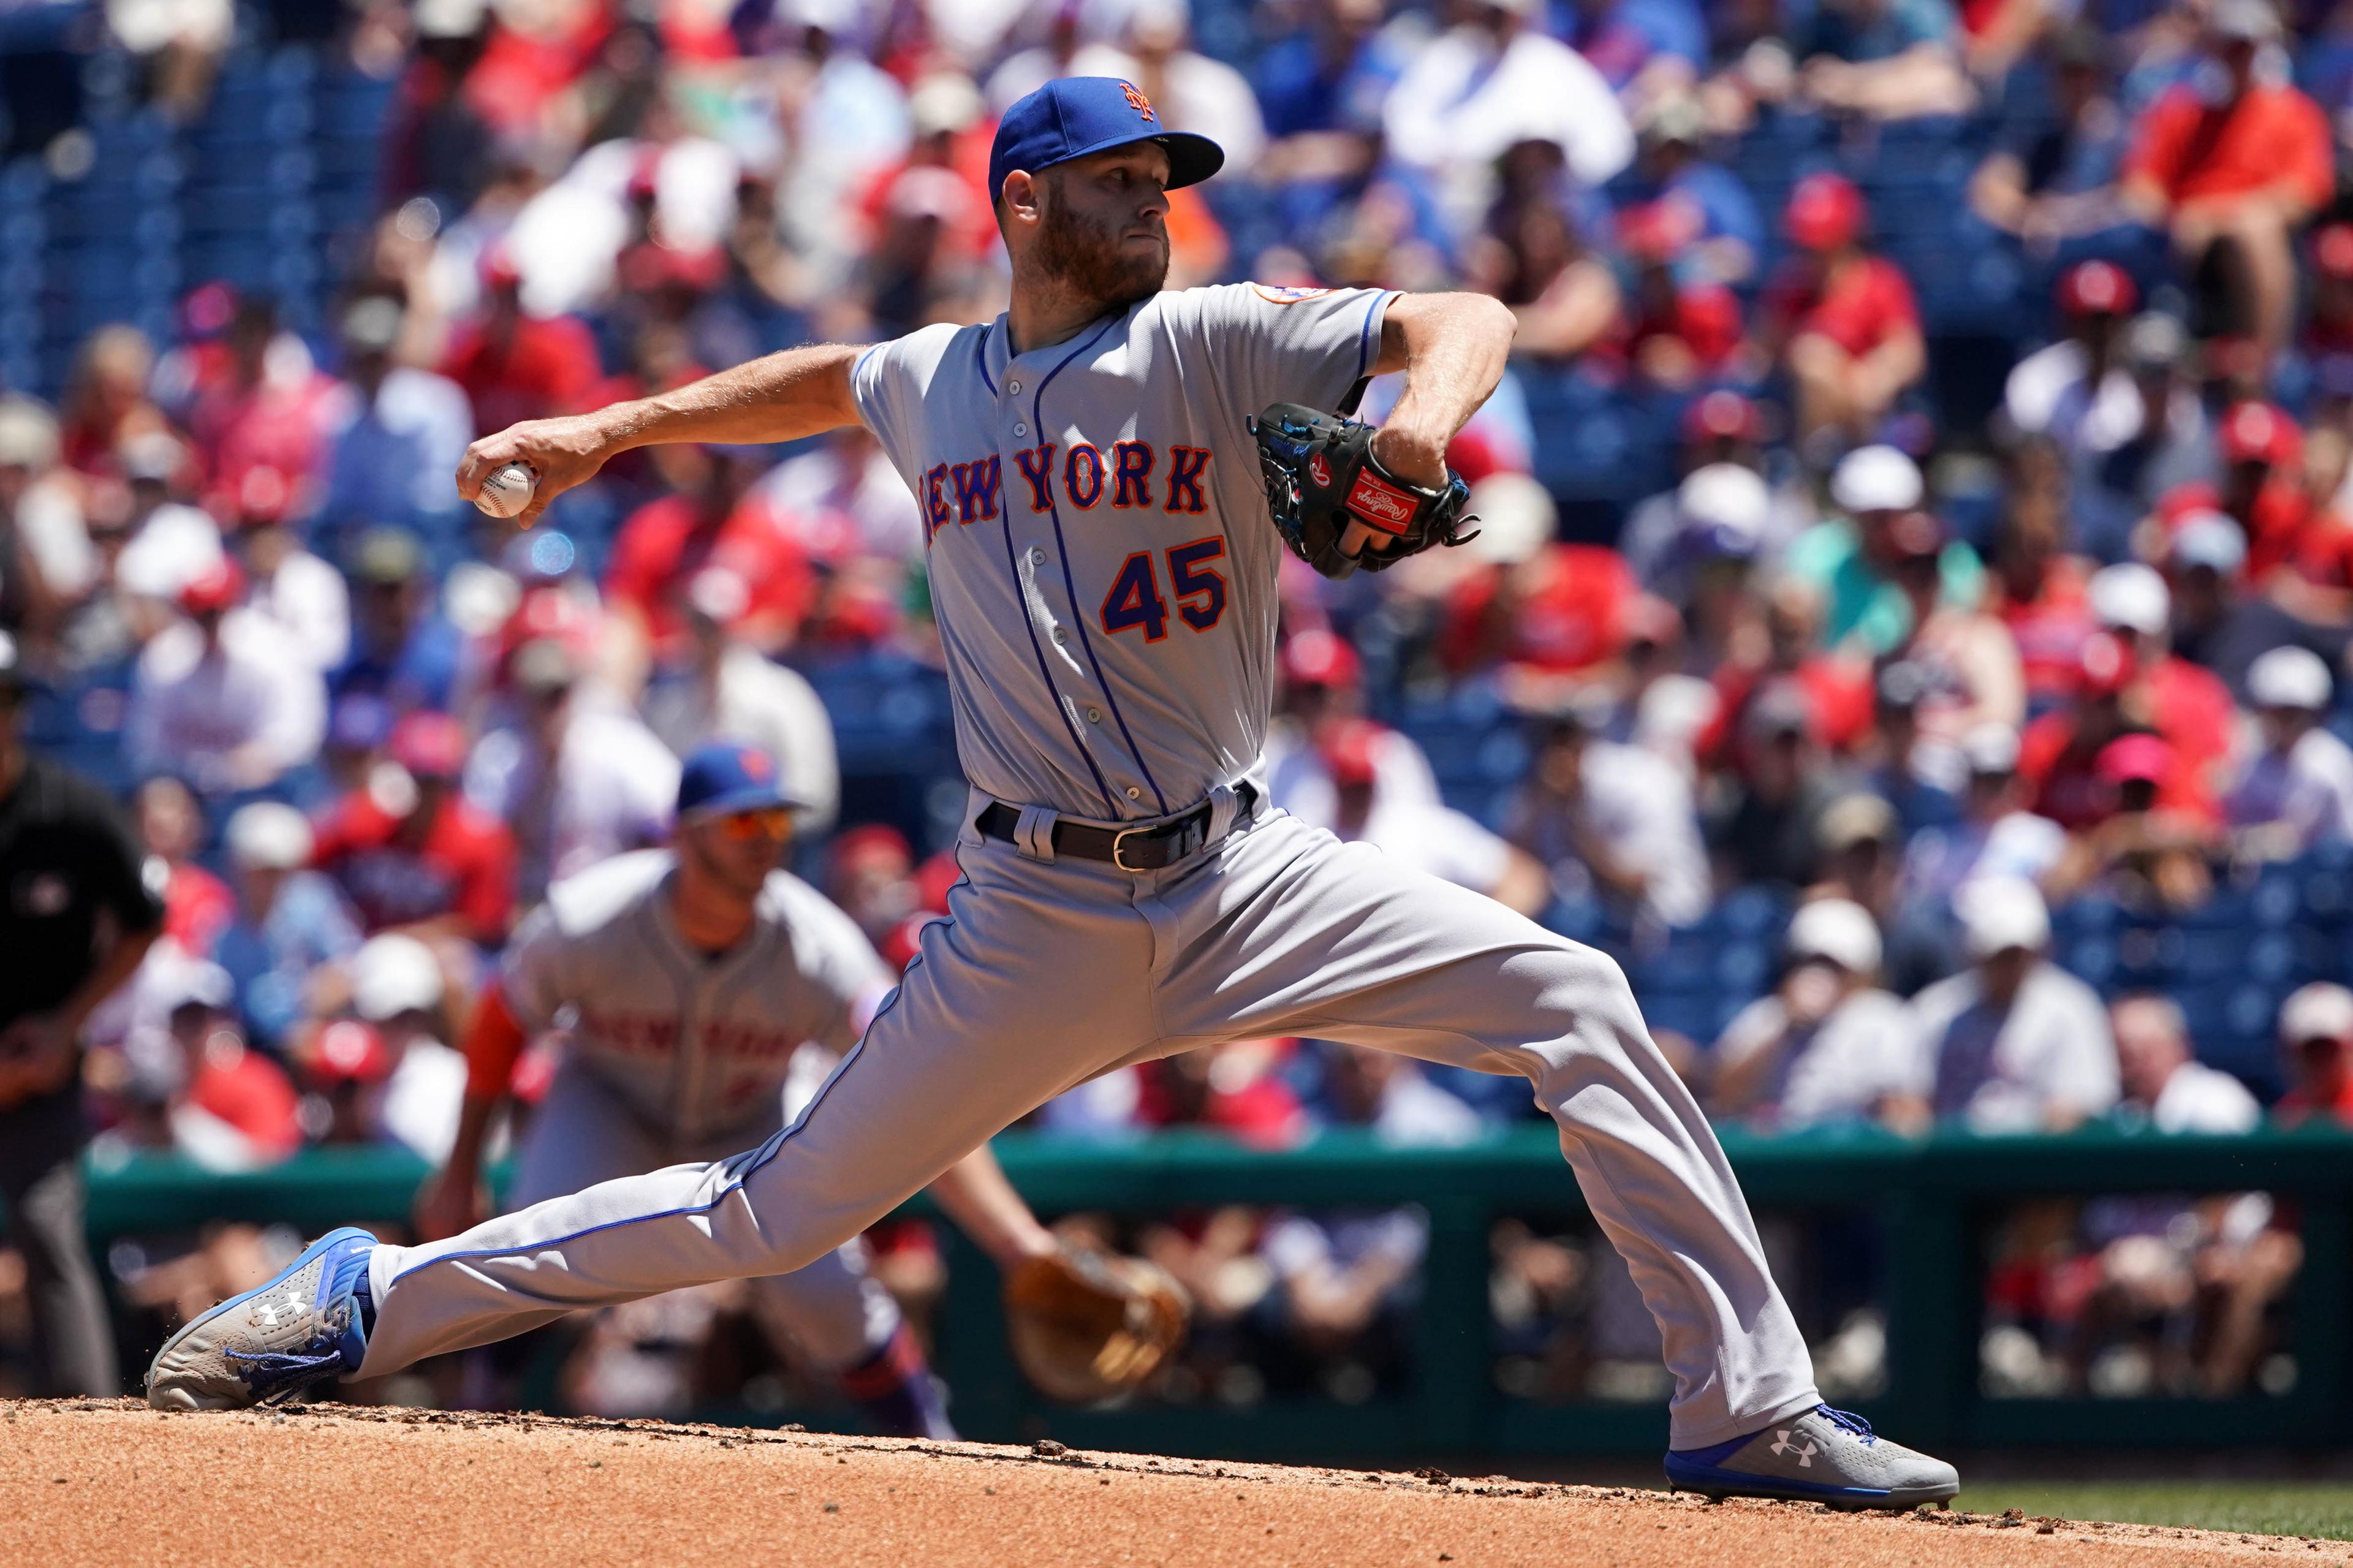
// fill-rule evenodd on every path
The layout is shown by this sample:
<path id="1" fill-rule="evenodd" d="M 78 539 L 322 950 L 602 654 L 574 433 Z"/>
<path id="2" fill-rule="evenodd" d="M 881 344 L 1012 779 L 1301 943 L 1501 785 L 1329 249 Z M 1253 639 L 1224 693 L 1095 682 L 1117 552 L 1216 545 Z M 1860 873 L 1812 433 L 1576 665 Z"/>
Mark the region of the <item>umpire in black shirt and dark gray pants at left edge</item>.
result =
<path id="1" fill-rule="evenodd" d="M 24 749 L 28 680 L 0 631 L 0 1205 L 26 1260 L 54 1394 L 120 1394 L 82 1236 L 82 1019 L 162 930 L 129 822 L 104 789 Z"/>

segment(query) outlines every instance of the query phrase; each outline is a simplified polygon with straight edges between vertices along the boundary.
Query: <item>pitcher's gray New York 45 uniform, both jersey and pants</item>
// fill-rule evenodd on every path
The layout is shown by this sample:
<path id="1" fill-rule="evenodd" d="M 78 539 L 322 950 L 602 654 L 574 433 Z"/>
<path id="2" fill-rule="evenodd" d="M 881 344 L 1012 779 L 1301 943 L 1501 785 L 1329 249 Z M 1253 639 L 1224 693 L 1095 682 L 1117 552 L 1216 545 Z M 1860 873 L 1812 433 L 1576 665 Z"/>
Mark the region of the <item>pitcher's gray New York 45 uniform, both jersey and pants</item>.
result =
<path id="1" fill-rule="evenodd" d="M 1228 786 L 1261 765 L 1282 549 L 1245 419 L 1339 400 L 1388 299 L 1191 290 L 1024 356 L 998 320 L 856 363 L 859 410 L 925 511 L 974 784 L 948 918 L 758 1149 L 376 1248 L 365 1375 L 798 1267 L 1106 1069 L 1311 1034 L 1527 1078 L 1659 1321 L 1678 1448 L 1819 1401 L 1732 1168 L 1617 963 L 1280 810 L 1235 822 Z M 1019 848 L 976 831 L 991 796 L 1024 808 Z M 1172 866 L 1054 852 L 1056 815 L 1198 800 L 1212 843 Z"/>

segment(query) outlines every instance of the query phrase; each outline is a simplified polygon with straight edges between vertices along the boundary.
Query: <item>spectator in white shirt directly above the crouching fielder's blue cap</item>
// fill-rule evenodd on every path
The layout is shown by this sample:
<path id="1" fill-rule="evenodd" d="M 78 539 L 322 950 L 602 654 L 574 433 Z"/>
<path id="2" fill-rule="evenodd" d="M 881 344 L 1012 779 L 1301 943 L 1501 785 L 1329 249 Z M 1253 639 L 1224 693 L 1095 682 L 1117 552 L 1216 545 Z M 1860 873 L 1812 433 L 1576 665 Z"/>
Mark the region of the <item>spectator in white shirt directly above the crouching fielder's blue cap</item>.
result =
<path id="1" fill-rule="evenodd" d="M 833 718 L 807 676 L 729 631 L 748 600 L 744 579 L 727 567 L 696 572 L 687 584 L 687 652 L 654 669 L 640 706 L 678 756 L 732 739 L 776 758 L 786 793 L 807 803 L 795 831 L 814 836 L 833 826 L 842 798 Z"/>

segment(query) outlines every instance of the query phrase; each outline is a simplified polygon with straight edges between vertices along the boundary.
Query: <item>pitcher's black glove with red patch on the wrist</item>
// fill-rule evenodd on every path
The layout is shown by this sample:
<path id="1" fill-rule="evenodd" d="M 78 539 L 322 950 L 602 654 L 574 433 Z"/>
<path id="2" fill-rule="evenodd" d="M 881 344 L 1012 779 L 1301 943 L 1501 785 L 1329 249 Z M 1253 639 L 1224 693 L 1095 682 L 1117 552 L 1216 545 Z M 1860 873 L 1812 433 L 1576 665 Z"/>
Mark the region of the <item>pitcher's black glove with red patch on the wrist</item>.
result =
<path id="1" fill-rule="evenodd" d="M 1445 490 L 1424 490 L 1398 478 L 1372 454 L 1374 426 L 1322 414 L 1297 403 L 1271 403 L 1249 421 L 1259 438 L 1259 473 L 1266 509 L 1282 542 L 1325 577 L 1355 567 L 1384 572 L 1433 544 L 1461 544 L 1464 504 L 1471 490 L 1447 471 Z M 1365 546 L 1355 556 L 1339 549 L 1348 523 L 1388 534 L 1386 549 Z"/>

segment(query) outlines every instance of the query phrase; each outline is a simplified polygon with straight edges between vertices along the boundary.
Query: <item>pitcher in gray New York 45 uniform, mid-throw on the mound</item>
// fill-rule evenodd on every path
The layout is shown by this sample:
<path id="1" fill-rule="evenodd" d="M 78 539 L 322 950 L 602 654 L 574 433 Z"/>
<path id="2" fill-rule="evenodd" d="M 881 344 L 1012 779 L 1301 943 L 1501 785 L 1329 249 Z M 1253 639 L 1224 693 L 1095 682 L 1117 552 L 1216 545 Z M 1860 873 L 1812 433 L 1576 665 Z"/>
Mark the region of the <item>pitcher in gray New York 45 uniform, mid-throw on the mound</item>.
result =
<path id="1" fill-rule="evenodd" d="M 1377 532 L 1452 537 L 1445 447 L 1501 377 L 1513 318 L 1468 294 L 1162 292 L 1165 193 L 1219 162 L 1127 82 L 1047 82 L 991 155 L 1014 268 L 995 323 L 798 348 L 471 447 L 464 492 L 527 461 L 536 511 L 647 443 L 873 428 L 925 513 L 972 782 L 965 881 L 776 1137 L 431 1245 L 336 1231 L 181 1330 L 153 1398 L 252 1403 L 802 1267 L 1094 1074 L 1313 1034 L 1529 1081 L 1659 1321 L 1678 1486 L 1847 1507 L 1958 1490 L 1953 1467 L 1821 1406 L 1722 1149 L 1607 956 L 1259 808 L 1285 537 L 1252 419 L 1405 372 L 1369 447 L 1301 426 L 1287 457 L 1268 450 L 1278 490 L 1348 499 L 1315 527 L 1285 506 L 1301 553 L 1384 565 Z"/>

